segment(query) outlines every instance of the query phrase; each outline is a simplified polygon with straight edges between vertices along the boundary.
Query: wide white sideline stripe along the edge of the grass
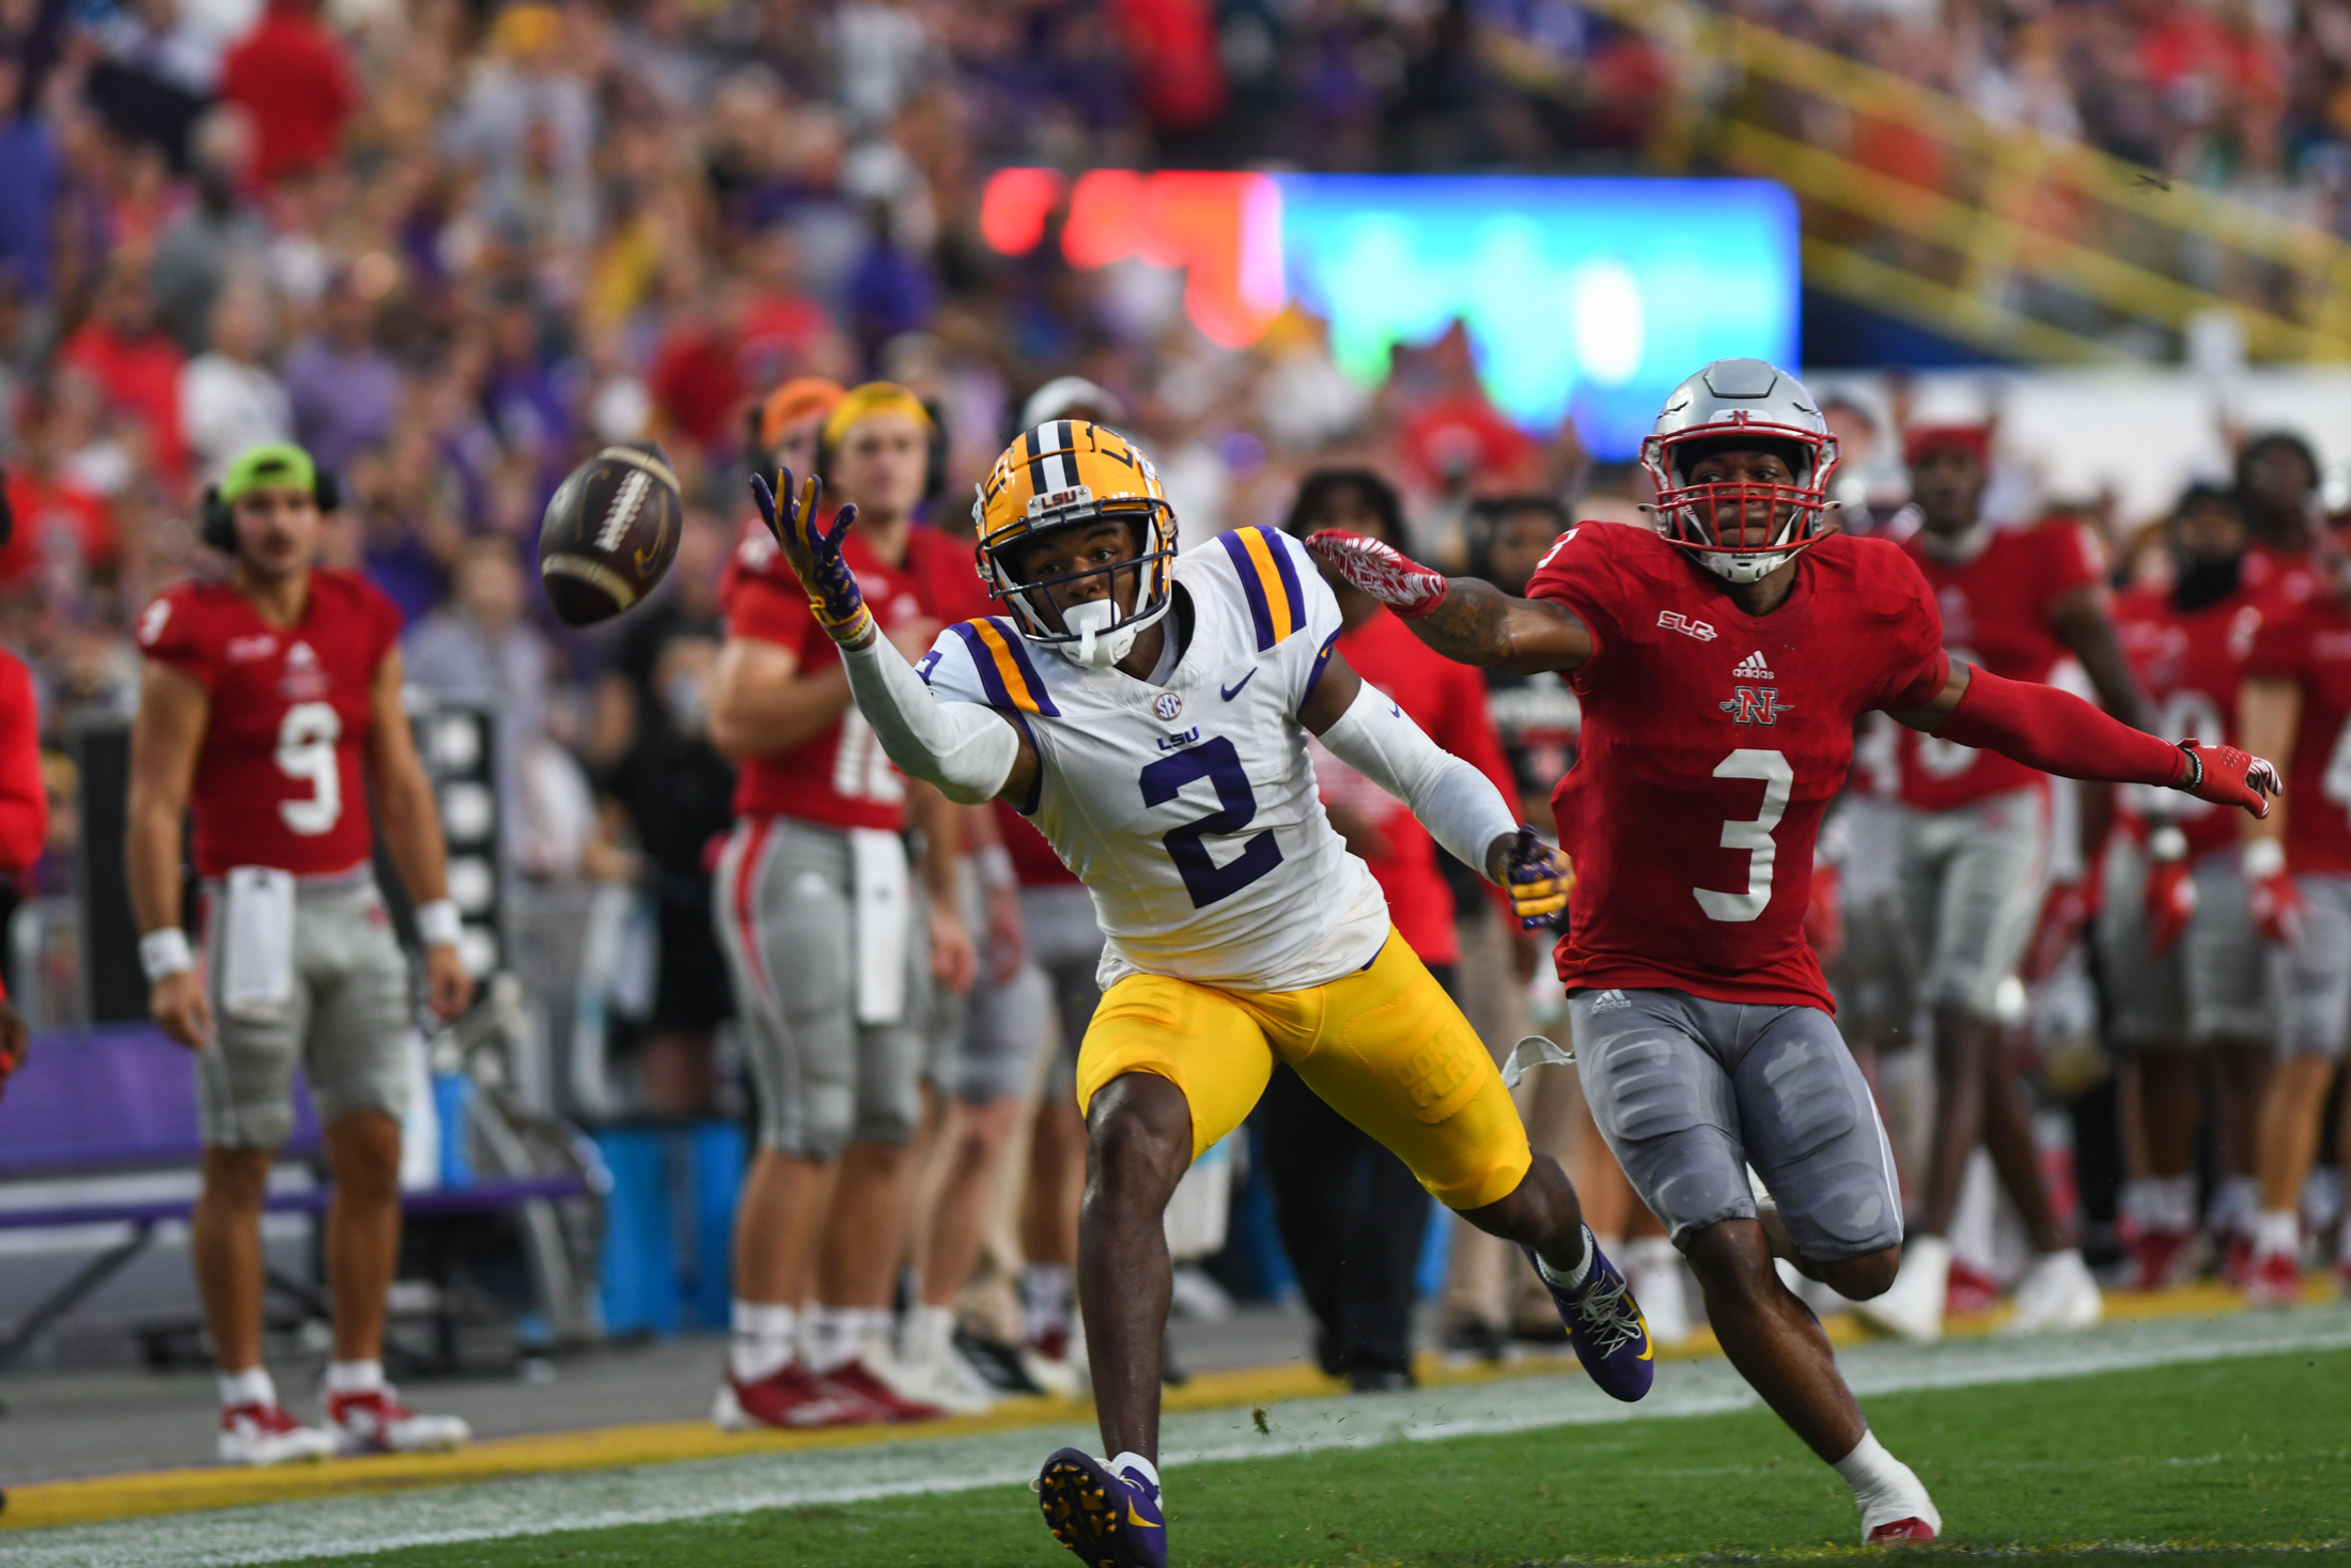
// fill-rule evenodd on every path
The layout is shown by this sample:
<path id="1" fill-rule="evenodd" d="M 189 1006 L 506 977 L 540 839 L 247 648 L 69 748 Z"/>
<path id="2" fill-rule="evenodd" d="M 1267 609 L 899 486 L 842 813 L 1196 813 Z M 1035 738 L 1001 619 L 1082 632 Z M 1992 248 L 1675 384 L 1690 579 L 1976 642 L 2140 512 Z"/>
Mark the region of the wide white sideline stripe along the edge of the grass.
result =
<path id="1" fill-rule="evenodd" d="M 1864 1345 L 1843 1352 L 1838 1363 L 1853 1389 L 1869 1396 L 2339 1347 L 2351 1347 L 2351 1309 L 2320 1307 L 2114 1324 L 2041 1340 Z M 1657 1368 L 1657 1387 L 1636 1406 L 1608 1399 L 1580 1375 L 1559 1375 L 1378 1396 L 1295 1399 L 1270 1408 L 1270 1434 L 1253 1429 L 1248 1410 L 1192 1410 L 1166 1420 L 1161 1462 L 1173 1469 L 1206 1460 L 1707 1415 L 1756 1403 L 1754 1392 L 1728 1363 L 1674 1361 Z M 353 1556 L 355 1542 L 367 1542 L 362 1554 L 376 1554 L 461 1540 L 957 1493 L 1030 1481 L 1049 1450 L 1065 1443 L 1091 1448 L 1093 1441 L 1093 1429 L 1081 1425 L 1030 1427 L 990 1436 L 686 1460 L 61 1526 L 0 1535 L 0 1566 L 226 1568 Z M 1183 1488 L 1180 1474 L 1171 1481 Z"/>

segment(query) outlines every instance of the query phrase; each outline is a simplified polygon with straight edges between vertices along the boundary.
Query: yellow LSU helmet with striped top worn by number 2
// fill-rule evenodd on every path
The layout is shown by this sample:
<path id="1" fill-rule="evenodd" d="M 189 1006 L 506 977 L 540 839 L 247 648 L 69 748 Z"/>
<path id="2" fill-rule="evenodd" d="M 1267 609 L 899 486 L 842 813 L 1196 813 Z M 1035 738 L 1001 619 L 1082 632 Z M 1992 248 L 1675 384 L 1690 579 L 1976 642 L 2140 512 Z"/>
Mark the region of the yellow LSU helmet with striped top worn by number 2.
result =
<path id="1" fill-rule="evenodd" d="M 1046 421 L 1004 449 L 978 491 L 971 522 L 980 534 L 980 578 L 992 597 L 1011 604 L 1013 625 L 1030 642 L 1100 670 L 1126 658 L 1143 628 L 1168 611 L 1176 508 L 1159 489 L 1152 461 L 1117 430 L 1084 418 Z M 1037 534 L 1100 520 L 1136 522 L 1138 552 L 1034 583 L 1013 574 L 1011 557 Z M 1131 607 L 1117 597 L 1121 571 L 1136 576 Z M 1049 592 L 1105 574 L 1110 592 L 1100 599 L 1058 609 Z"/>

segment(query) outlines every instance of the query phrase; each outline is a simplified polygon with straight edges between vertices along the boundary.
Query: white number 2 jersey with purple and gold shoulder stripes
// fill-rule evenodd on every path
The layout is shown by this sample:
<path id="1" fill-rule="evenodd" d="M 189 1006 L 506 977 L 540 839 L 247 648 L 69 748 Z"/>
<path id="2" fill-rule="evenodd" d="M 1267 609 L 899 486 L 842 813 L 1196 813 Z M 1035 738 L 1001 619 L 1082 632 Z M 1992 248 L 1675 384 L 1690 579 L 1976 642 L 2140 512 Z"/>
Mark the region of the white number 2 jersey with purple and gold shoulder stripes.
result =
<path id="1" fill-rule="evenodd" d="M 1295 541 L 1237 529 L 1176 557 L 1192 639 L 1166 686 L 1030 646 L 1006 618 L 940 632 L 917 670 L 1011 717 L 1044 762 L 1016 802 L 1093 893 L 1103 985 L 1324 985 L 1387 940 L 1387 900 L 1314 792 L 1298 722 L 1338 602 Z M 1161 625 L 1173 635 L 1176 614 Z"/>

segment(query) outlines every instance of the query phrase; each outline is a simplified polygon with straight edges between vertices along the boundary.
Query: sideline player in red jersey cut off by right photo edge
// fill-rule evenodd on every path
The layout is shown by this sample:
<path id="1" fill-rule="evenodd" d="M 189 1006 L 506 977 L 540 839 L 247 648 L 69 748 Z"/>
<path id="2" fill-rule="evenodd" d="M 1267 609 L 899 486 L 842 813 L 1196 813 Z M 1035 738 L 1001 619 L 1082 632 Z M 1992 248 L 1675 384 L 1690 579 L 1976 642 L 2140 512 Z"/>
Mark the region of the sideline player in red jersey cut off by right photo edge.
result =
<path id="1" fill-rule="evenodd" d="M 2337 562 L 2332 581 L 2318 583 L 2299 604 L 2264 607 L 2238 698 L 2238 733 L 2276 748 L 2295 785 L 2290 811 L 2245 832 L 2252 919 L 2283 950 L 2248 1281 L 2269 1305 L 2302 1295 L 2302 1180 L 2318 1154 L 2327 1081 L 2351 1041 L 2351 569 Z M 2351 1218 L 2342 1239 L 2351 1288 Z"/>

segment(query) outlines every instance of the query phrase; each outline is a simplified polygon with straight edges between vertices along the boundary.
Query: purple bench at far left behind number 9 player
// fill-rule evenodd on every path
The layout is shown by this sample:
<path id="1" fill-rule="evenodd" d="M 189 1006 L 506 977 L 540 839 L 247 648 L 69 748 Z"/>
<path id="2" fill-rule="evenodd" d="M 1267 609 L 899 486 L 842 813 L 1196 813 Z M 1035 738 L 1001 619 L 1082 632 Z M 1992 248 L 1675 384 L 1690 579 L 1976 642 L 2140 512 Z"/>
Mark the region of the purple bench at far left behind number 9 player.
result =
<path id="1" fill-rule="evenodd" d="M 282 1159 L 301 1161 L 320 1154 L 317 1119 L 310 1110 L 310 1093 L 303 1088 L 294 1095 L 294 1135 L 287 1140 Z M 33 1039 L 31 1060 L 9 1079 L 7 1098 L 0 1100 L 0 1182 L 193 1171 L 197 1164 L 202 1164 L 202 1140 L 195 1121 L 195 1072 L 188 1051 L 153 1025 L 101 1025 L 40 1034 Z M 588 1182 L 578 1175 L 489 1178 L 468 1187 L 404 1192 L 400 1208 L 404 1215 L 489 1213 L 529 1201 L 576 1199 L 588 1192 Z M 313 1187 L 273 1192 L 266 1208 L 320 1213 L 329 1201 L 329 1187 Z M 0 1229 L 132 1227 L 129 1237 L 92 1258 L 7 1333 L 0 1333 L 0 1368 L 21 1356 L 49 1324 L 136 1258 L 158 1225 L 186 1220 L 193 1208 L 193 1199 L 0 1206 Z M 299 1281 L 273 1274 L 270 1284 L 308 1305 L 320 1305 L 320 1293 Z"/>

